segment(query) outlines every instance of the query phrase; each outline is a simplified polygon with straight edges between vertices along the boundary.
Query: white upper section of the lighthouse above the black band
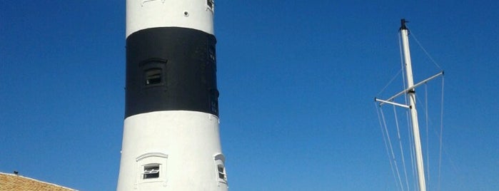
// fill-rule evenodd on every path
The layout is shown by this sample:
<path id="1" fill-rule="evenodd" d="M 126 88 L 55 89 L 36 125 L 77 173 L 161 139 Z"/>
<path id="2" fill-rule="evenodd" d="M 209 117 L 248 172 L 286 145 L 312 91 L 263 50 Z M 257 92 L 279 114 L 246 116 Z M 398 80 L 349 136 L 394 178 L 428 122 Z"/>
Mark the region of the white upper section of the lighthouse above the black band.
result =
<path id="1" fill-rule="evenodd" d="M 127 0 L 126 36 L 142 29 L 171 26 L 213 34 L 213 14 L 206 0 Z"/>

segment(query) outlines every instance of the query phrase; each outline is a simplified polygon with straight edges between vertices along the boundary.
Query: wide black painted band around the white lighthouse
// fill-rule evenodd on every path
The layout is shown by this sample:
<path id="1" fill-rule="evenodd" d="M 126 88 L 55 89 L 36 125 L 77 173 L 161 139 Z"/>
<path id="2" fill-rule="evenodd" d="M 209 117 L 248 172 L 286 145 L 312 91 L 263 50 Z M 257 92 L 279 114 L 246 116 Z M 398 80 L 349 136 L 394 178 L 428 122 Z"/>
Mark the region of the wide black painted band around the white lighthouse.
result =
<path id="1" fill-rule="evenodd" d="M 125 118 L 157 110 L 218 116 L 215 44 L 211 34 L 178 27 L 128 36 Z"/>

